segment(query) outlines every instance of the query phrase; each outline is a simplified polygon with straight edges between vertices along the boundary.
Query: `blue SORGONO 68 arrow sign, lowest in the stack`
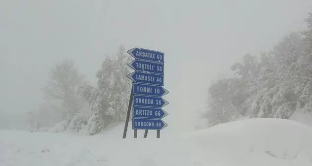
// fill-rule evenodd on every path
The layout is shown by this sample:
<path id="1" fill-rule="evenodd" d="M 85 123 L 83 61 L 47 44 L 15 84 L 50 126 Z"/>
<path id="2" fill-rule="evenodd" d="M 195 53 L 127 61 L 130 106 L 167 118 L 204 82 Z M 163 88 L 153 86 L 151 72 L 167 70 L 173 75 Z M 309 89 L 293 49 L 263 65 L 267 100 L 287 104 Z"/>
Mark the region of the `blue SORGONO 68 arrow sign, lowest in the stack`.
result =
<path id="1" fill-rule="evenodd" d="M 132 129 L 145 130 L 161 130 L 168 126 L 167 123 L 161 119 L 141 119 L 135 118 L 132 120 Z"/>

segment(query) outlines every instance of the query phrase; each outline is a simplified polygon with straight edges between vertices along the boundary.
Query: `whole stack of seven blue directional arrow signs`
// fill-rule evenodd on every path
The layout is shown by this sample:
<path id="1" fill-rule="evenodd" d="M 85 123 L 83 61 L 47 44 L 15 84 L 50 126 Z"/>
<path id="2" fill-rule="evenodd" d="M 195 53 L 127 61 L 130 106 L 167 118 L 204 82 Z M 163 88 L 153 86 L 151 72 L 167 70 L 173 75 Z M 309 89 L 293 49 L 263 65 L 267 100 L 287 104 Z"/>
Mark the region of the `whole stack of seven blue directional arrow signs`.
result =
<path id="1" fill-rule="evenodd" d="M 129 101 L 133 105 L 132 129 L 159 132 L 168 126 L 161 120 L 168 115 L 162 109 L 168 101 L 162 99 L 162 96 L 169 93 L 162 87 L 164 85 L 164 53 L 144 48 L 132 48 L 127 52 L 135 58 L 128 64 L 135 71 L 127 74 L 133 82 Z"/>

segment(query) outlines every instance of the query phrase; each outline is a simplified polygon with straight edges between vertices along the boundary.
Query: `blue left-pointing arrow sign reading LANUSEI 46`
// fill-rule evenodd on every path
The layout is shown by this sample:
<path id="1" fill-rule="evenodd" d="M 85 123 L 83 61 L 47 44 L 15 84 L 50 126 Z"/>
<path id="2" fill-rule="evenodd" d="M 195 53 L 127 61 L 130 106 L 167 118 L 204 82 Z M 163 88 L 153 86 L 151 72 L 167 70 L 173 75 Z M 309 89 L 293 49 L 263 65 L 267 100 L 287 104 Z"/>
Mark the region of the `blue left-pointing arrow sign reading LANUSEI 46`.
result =
<path id="1" fill-rule="evenodd" d="M 163 75 L 135 71 L 127 77 L 137 83 L 163 86 Z"/>

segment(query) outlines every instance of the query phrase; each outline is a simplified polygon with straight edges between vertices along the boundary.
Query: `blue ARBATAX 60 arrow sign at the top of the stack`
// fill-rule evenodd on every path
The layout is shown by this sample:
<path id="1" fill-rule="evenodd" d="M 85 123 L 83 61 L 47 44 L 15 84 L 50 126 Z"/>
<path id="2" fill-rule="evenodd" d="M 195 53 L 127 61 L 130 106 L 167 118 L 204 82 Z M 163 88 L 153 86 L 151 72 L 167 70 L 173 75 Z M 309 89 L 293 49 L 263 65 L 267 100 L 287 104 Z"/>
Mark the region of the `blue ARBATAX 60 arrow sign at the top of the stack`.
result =
<path id="1" fill-rule="evenodd" d="M 164 63 L 164 53 L 144 48 L 132 48 L 127 51 L 135 59 Z"/>

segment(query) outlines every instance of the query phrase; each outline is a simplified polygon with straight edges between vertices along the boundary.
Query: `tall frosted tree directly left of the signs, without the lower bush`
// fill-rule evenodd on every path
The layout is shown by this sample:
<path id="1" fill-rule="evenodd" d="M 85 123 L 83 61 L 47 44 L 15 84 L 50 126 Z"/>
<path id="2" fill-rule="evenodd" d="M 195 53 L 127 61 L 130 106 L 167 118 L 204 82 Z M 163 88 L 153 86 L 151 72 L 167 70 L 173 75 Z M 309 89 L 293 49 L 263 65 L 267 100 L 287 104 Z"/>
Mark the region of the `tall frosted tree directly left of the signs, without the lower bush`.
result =
<path id="1" fill-rule="evenodd" d="M 131 80 L 126 77 L 131 72 L 127 66 L 130 57 L 120 46 L 117 56 L 108 60 L 97 72 L 98 87 L 105 97 L 101 110 L 107 122 L 125 119 L 131 91 Z"/>

